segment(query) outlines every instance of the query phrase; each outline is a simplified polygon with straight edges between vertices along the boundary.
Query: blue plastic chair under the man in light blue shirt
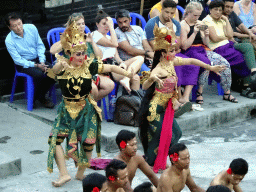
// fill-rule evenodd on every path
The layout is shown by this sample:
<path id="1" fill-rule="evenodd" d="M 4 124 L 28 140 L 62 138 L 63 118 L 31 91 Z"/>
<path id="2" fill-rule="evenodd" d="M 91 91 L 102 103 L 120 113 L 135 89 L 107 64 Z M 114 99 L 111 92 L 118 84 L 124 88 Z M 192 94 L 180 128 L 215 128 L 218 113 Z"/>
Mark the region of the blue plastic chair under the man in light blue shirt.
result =
<path id="1" fill-rule="evenodd" d="M 33 110 L 33 104 L 34 104 L 34 81 L 33 77 L 30 75 L 27 75 L 25 73 L 18 72 L 15 68 L 15 75 L 13 79 L 13 84 L 12 84 L 12 93 L 10 97 L 10 103 L 13 103 L 14 100 L 14 93 L 15 93 L 15 88 L 17 84 L 17 79 L 18 77 L 24 77 L 26 78 L 25 81 L 25 96 L 27 99 L 27 110 L 32 111 Z M 54 104 L 56 104 L 56 94 L 55 94 L 55 86 L 53 85 L 52 88 L 49 91 L 49 96 L 52 97 L 52 101 Z"/>

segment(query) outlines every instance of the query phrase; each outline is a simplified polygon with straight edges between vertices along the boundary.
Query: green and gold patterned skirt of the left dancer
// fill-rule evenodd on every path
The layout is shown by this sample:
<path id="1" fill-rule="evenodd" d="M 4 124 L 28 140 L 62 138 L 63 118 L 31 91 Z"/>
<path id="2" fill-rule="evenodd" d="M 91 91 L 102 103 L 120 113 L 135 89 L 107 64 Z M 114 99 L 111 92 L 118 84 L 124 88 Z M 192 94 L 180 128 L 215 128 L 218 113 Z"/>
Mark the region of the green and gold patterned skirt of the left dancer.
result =
<path id="1" fill-rule="evenodd" d="M 78 166 L 90 166 L 84 146 L 91 147 L 89 151 L 92 151 L 94 144 L 96 144 L 96 151 L 100 156 L 101 115 L 99 115 L 97 107 L 95 108 L 95 103 L 91 98 L 86 98 L 83 101 L 83 109 L 76 117 L 70 115 L 69 106 L 64 100 L 60 103 L 58 116 L 49 137 L 47 170 L 50 173 L 53 171 L 56 143 L 60 144 L 64 139 L 66 139 L 65 157 L 67 159 L 72 158 Z M 78 143 L 80 143 L 80 149 Z"/>

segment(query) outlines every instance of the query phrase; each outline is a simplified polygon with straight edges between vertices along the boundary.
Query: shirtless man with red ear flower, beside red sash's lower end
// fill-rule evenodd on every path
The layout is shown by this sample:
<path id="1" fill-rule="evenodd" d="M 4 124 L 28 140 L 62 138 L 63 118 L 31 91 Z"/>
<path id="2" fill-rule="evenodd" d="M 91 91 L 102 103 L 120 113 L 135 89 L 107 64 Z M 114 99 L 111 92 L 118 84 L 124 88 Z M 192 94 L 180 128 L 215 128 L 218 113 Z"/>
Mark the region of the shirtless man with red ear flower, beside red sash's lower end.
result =
<path id="1" fill-rule="evenodd" d="M 174 144 L 169 152 L 172 165 L 161 175 L 157 192 L 180 192 L 185 185 L 192 192 L 205 192 L 194 182 L 189 169 L 190 155 L 183 143 Z"/>

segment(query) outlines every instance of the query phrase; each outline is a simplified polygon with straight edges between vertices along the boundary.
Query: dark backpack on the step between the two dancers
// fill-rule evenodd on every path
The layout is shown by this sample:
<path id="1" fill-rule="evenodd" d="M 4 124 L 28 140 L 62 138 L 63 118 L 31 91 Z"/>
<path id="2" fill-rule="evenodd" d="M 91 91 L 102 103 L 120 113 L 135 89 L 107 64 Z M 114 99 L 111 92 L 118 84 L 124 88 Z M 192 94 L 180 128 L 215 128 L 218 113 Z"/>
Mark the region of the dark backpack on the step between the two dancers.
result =
<path id="1" fill-rule="evenodd" d="M 116 100 L 114 123 L 138 127 L 142 96 L 142 91 L 132 91 L 130 95 L 118 97 Z"/>

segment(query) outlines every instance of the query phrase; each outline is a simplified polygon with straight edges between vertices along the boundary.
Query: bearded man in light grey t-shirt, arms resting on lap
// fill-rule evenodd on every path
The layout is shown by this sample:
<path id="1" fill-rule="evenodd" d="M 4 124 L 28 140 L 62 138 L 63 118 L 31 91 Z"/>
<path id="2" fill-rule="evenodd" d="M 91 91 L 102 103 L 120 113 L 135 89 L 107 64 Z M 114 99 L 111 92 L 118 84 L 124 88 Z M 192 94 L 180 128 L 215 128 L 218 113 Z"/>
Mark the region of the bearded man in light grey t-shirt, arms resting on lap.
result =
<path id="1" fill-rule="evenodd" d="M 154 52 L 147 41 L 145 31 L 140 26 L 130 25 L 129 11 L 121 9 L 115 14 L 118 27 L 115 29 L 119 56 L 123 61 L 141 55 L 144 63 L 150 67 Z"/>

